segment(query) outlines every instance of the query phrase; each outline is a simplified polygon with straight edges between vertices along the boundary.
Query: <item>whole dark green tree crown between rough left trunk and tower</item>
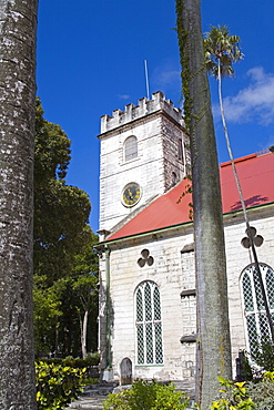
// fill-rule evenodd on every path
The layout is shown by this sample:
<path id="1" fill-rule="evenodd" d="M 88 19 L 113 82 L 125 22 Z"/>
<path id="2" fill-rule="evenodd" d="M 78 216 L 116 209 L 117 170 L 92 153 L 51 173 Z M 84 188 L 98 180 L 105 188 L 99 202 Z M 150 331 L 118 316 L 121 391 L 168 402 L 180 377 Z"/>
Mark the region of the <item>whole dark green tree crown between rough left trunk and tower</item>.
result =
<path id="1" fill-rule="evenodd" d="M 43 119 L 37 99 L 34 146 L 34 274 L 51 286 L 67 276 L 74 256 L 90 242 L 91 204 L 88 194 L 65 185 L 70 140 L 61 127 Z"/>

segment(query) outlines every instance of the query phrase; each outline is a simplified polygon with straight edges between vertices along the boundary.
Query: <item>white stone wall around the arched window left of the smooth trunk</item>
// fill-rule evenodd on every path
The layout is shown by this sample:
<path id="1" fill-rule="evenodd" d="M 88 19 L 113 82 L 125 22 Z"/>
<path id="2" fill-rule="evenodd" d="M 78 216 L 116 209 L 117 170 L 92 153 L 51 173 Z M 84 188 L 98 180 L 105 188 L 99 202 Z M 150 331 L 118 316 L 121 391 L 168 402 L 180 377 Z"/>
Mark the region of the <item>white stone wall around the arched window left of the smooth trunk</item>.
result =
<path id="1" fill-rule="evenodd" d="M 183 346 L 180 342 L 184 331 L 195 332 L 195 301 L 193 297 L 181 298 L 183 288 L 194 287 L 193 273 L 182 274 L 181 262 L 183 246 L 192 242 L 193 235 L 189 233 L 184 238 L 160 238 L 111 252 L 111 344 L 115 378 L 120 378 L 120 363 L 124 357 L 132 360 L 134 378 L 182 380 L 194 376 L 195 344 Z M 149 249 L 154 264 L 141 268 L 136 262 L 144 248 Z M 134 291 L 143 280 L 152 280 L 160 287 L 163 366 L 142 367 L 135 361 Z"/>

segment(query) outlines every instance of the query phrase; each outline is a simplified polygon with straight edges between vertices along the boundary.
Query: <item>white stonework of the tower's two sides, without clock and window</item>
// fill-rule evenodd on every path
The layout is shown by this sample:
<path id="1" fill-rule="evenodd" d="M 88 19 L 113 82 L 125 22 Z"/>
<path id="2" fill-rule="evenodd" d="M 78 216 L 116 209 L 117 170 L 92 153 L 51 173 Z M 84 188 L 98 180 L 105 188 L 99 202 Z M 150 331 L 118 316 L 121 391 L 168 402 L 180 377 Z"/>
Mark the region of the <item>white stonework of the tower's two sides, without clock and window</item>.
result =
<path id="1" fill-rule="evenodd" d="M 176 182 L 184 177 L 185 164 L 179 158 L 179 141 L 183 140 L 184 145 L 187 143 L 181 124 L 182 115 L 180 111 L 174 111 L 171 102 L 162 103 L 160 105 L 166 111 L 153 112 L 158 107 L 153 105 L 152 111 L 138 119 L 133 119 L 132 114 L 124 116 L 118 127 L 114 126 L 119 124 L 116 115 L 103 121 L 106 125 L 102 130 L 106 132 L 99 136 L 100 229 L 111 230 L 136 207 L 171 188 L 174 185 L 173 173 L 176 174 Z M 170 111 L 174 112 L 175 120 L 181 121 L 166 115 Z M 122 114 L 119 112 L 120 116 Z M 125 162 L 124 142 L 132 135 L 138 139 L 138 157 Z M 189 154 L 186 162 L 190 163 Z M 139 183 L 142 191 L 141 201 L 134 207 L 125 207 L 121 202 L 122 189 L 130 182 Z"/>

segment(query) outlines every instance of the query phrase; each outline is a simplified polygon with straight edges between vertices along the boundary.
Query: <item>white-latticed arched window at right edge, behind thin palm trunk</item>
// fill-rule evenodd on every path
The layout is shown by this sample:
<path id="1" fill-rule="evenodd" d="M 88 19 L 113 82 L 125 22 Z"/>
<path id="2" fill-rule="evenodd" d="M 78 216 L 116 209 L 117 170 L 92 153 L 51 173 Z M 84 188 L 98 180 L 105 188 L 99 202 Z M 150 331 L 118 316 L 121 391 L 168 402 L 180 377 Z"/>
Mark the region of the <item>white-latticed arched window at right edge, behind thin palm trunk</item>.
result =
<path id="1" fill-rule="evenodd" d="M 260 264 L 263 285 L 274 321 L 274 271 L 266 264 Z M 244 305 L 245 327 L 250 351 L 257 348 L 257 344 L 271 340 L 271 330 L 265 312 L 262 288 L 255 264 L 248 265 L 242 273 L 241 287 Z"/>

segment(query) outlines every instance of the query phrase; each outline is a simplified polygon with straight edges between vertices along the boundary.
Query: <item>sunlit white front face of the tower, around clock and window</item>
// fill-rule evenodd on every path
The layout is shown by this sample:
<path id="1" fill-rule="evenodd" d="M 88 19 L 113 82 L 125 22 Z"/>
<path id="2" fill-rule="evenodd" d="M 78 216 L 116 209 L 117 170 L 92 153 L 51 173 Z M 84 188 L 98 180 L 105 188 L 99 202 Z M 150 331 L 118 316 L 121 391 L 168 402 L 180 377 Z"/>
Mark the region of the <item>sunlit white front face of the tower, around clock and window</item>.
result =
<path id="1" fill-rule="evenodd" d="M 161 117 L 158 117 L 101 141 L 100 229 L 111 229 L 133 211 L 121 202 L 122 189 L 128 183 L 136 182 L 142 188 L 138 206 L 163 193 L 160 132 Z M 125 162 L 123 145 L 131 135 L 138 139 L 138 157 Z M 148 185 L 150 189 L 146 189 Z"/>

